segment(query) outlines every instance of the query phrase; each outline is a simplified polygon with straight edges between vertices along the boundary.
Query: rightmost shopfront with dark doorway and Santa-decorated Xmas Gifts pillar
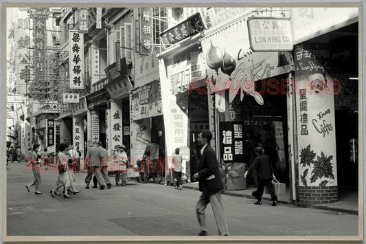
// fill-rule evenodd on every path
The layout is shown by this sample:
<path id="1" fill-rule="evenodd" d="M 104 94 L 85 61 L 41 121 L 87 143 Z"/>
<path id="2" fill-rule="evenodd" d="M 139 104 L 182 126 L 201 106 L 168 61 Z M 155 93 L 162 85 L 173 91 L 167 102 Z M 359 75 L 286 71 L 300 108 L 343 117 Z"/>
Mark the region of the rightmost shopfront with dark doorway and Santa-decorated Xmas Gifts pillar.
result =
<path id="1" fill-rule="evenodd" d="M 341 11 L 292 12 L 301 206 L 358 189 L 358 8 Z"/>

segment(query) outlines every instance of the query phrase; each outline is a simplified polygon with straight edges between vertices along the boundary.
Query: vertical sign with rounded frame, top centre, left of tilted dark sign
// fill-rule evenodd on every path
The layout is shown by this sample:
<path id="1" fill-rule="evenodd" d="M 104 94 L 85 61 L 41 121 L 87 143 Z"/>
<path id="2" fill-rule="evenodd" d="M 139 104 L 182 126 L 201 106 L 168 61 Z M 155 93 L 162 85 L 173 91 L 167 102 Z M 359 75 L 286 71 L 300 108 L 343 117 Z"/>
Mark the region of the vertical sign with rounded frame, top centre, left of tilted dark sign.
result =
<path id="1" fill-rule="evenodd" d="M 139 54 L 150 55 L 154 52 L 154 27 L 152 8 L 139 8 Z"/>

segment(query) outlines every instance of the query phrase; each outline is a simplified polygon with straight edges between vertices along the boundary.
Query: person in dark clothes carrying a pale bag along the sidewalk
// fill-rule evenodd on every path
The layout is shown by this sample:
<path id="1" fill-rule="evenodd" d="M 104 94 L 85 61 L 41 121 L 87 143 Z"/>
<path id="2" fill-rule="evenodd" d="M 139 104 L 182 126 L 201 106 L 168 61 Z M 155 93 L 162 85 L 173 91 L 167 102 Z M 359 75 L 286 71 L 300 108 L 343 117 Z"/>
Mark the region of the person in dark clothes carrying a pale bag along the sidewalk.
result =
<path id="1" fill-rule="evenodd" d="M 244 177 L 247 177 L 248 173 L 252 170 L 257 170 L 258 175 L 258 189 L 252 193 L 253 197 L 255 197 L 258 201 L 256 201 L 255 205 L 262 204 L 262 195 L 264 186 L 268 189 L 269 194 L 271 195 L 272 206 L 277 205 L 277 196 L 275 193 L 275 188 L 272 183 L 272 179 L 276 179 L 273 166 L 271 162 L 271 158 L 268 155 L 264 154 L 264 148 L 261 146 L 257 146 L 255 148 L 255 153 L 257 157 L 254 159 L 253 164 L 249 166 L 248 170 L 245 171 Z"/>

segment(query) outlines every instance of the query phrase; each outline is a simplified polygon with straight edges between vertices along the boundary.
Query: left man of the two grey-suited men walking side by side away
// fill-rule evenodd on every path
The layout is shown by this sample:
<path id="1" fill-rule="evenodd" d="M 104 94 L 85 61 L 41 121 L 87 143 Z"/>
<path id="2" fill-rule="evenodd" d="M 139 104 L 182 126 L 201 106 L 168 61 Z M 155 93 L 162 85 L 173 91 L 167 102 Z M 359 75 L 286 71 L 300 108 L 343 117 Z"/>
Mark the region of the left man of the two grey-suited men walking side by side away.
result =
<path id="1" fill-rule="evenodd" d="M 100 185 L 100 190 L 103 190 L 106 187 L 106 183 L 102 177 L 102 173 L 100 173 L 102 168 L 101 162 L 102 154 L 100 153 L 100 148 L 98 148 L 98 142 L 93 142 L 93 146 L 88 148 L 87 152 L 87 160 L 88 164 L 88 175 L 85 177 L 85 183 L 87 184 L 87 189 L 89 189 L 89 184 L 91 181 L 91 176 L 95 175 L 97 181 Z"/>

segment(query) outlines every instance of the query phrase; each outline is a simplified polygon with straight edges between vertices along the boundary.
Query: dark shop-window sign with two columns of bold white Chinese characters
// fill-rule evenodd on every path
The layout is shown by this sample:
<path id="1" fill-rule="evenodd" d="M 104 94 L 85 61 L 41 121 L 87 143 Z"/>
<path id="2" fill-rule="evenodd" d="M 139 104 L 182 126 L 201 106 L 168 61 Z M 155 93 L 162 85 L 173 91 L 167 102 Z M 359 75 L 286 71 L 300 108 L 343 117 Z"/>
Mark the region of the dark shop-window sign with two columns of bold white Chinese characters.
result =
<path id="1" fill-rule="evenodd" d="M 243 133 L 241 122 L 220 122 L 221 158 L 225 163 L 242 162 Z"/>

